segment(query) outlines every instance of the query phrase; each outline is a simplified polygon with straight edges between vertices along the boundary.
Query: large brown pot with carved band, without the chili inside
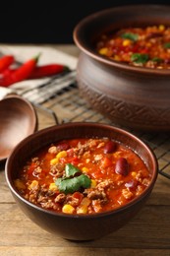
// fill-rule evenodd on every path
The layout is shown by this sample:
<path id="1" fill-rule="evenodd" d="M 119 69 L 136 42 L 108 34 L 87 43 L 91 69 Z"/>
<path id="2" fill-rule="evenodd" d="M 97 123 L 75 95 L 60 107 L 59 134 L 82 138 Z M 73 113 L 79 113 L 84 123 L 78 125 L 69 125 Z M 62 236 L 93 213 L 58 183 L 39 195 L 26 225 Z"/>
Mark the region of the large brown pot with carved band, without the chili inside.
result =
<path id="1" fill-rule="evenodd" d="M 145 131 L 170 130 L 170 70 L 130 66 L 109 60 L 95 50 L 102 32 L 127 27 L 166 25 L 170 7 L 122 6 L 94 13 L 74 30 L 81 49 L 78 86 L 89 104 L 115 124 Z"/>

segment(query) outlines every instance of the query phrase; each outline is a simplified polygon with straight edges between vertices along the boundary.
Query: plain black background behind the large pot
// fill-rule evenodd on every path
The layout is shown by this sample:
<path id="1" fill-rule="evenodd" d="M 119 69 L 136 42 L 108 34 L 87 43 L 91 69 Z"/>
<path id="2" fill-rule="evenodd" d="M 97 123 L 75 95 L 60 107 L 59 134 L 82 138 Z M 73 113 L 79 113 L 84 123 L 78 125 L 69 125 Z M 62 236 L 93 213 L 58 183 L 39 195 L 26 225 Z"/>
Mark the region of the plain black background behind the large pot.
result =
<path id="1" fill-rule="evenodd" d="M 57 0 L 34 4 L 1 3 L 0 43 L 73 43 L 74 28 L 89 14 L 122 5 L 169 5 L 170 0 Z"/>

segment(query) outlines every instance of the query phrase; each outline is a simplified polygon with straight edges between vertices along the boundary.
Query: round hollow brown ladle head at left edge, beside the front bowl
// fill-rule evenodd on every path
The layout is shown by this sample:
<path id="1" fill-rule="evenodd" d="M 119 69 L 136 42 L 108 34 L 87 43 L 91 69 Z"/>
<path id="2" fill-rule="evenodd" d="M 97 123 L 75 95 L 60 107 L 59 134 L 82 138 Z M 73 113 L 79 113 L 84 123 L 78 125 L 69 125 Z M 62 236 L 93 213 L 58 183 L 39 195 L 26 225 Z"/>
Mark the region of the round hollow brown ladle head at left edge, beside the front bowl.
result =
<path id="1" fill-rule="evenodd" d="M 37 127 L 36 112 L 24 97 L 15 94 L 0 100 L 0 161 L 6 160 L 16 145 Z"/>

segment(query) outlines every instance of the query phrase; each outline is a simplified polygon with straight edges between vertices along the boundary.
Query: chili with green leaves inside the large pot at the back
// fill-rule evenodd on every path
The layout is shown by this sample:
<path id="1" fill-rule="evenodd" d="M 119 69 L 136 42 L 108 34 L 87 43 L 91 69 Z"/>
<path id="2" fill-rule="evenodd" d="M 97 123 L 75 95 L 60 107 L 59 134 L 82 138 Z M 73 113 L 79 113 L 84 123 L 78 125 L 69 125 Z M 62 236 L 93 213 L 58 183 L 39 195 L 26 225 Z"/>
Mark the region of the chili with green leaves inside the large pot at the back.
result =
<path id="1" fill-rule="evenodd" d="M 170 69 L 170 28 L 125 28 L 101 34 L 97 52 L 111 60 L 146 68 Z"/>

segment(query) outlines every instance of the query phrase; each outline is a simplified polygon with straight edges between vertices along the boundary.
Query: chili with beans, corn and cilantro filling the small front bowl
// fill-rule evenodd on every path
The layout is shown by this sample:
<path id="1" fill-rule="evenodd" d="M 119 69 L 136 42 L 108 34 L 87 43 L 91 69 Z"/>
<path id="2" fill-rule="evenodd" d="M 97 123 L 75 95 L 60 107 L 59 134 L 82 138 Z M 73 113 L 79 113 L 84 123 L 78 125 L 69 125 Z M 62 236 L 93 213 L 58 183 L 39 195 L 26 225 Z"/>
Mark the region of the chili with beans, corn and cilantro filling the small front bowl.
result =
<path id="1" fill-rule="evenodd" d="M 108 138 L 56 142 L 21 169 L 16 188 L 29 202 L 58 213 L 85 215 L 118 209 L 150 182 L 142 159 Z"/>

